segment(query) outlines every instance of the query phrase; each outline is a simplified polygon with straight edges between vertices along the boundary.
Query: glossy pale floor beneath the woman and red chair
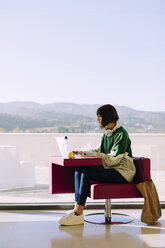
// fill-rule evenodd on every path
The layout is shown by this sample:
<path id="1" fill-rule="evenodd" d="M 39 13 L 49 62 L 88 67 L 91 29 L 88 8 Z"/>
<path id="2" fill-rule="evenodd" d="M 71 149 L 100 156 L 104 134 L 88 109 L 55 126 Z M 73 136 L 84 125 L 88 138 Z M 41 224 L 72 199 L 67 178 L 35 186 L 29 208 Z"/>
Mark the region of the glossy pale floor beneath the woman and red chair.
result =
<path id="1" fill-rule="evenodd" d="M 93 212 L 98 211 L 85 210 Z M 115 212 L 135 219 L 124 225 L 60 226 L 65 211 L 0 211 L 0 248 L 165 248 L 165 210 L 153 225 L 140 221 L 141 210 Z"/>

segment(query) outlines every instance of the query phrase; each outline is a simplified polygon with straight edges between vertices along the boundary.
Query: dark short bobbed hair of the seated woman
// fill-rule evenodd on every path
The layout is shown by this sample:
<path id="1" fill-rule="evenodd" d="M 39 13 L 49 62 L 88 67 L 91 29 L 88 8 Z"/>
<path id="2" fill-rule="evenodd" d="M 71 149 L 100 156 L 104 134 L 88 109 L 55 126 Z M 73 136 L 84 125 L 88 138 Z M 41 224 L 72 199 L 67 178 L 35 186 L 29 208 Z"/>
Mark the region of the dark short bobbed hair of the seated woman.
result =
<path id="1" fill-rule="evenodd" d="M 117 122 L 119 120 L 119 116 L 117 110 L 111 104 L 105 104 L 97 109 L 97 116 L 100 115 L 102 117 L 102 125 L 105 127 L 110 122 Z"/>

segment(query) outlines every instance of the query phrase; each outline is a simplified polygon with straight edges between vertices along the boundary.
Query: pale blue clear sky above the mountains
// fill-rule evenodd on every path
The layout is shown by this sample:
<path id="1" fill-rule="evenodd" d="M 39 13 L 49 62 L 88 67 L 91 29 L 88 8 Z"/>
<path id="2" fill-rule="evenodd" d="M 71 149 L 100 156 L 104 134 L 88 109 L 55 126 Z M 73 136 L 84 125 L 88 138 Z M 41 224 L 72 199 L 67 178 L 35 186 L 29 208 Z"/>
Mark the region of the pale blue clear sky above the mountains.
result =
<path id="1" fill-rule="evenodd" d="M 165 0 L 0 0 L 0 102 L 165 111 Z"/>

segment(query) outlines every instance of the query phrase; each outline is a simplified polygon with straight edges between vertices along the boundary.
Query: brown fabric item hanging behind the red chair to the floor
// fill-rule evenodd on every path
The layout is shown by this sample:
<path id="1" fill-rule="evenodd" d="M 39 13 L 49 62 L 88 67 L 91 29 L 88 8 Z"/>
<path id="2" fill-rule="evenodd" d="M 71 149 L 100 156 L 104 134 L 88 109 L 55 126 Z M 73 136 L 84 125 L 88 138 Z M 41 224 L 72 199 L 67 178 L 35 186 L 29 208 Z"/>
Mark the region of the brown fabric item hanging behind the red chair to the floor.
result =
<path id="1" fill-rule="evenodd" d="M 156 222 L 162 215 L 158 193 L 152 180 L 143 181 L 136 185 L 144 197 L 141 221 L 146 224 Z"/>

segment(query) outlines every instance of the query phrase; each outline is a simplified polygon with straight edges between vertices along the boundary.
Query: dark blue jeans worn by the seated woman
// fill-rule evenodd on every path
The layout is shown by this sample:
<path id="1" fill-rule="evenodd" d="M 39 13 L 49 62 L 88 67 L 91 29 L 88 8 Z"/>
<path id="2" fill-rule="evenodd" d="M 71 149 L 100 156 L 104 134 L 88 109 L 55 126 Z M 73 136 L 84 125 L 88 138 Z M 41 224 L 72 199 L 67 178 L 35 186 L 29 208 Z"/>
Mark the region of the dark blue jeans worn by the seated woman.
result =
<path id="1" fill-rule="evenodd" d="M 90 196 L 90 182 L 102 183 L 128 183 L 128 181 L 115 169 L 104 169 L 102 166 L 81 166 L 75 171 L 75 201 L 78 205 L 85 205 Z"/>

